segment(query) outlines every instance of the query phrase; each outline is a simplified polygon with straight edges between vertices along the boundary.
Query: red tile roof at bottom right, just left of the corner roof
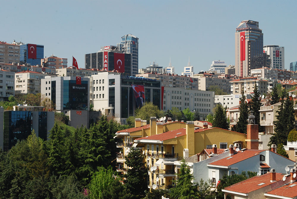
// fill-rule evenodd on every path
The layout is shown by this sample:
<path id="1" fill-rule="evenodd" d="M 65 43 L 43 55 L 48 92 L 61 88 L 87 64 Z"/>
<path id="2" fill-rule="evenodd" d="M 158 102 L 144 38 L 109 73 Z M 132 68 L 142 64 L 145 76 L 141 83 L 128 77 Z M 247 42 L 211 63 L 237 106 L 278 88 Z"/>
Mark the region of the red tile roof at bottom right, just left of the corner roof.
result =
<path id="1" fill-rule="evenodd" d="M 252 191 L 255 191 L 257 189 L 261 189 L 263 187 L 266 187 L 267 185 L 277 183 L 277 181 L 281 181 L 284 174 L 282 173 L 276 173 L 276 181 L 270 182 L 270 173 L 266 173 L 262 176 L 255 176 L 252 178 L 249 178 L 247 180 L 238 182 L 236 184 L 233 184 L 229 187 L 226 187 L 225 190 L 228 191 L 234 191 L 239 193 L 250 193 Z M 258 185 L 260 183 L 265 183 L 263 185 Z"/>

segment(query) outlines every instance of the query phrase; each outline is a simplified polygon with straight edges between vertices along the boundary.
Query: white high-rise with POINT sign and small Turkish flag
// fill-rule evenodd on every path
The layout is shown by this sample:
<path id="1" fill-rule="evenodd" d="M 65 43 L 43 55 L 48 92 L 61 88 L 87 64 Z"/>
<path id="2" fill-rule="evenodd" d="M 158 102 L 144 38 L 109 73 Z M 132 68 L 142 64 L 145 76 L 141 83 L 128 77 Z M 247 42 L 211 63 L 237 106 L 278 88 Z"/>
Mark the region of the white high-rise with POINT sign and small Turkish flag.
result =
<path id="1" fill-rule="evenodd" d="M 263 53 L 266 53 L 271 60 L 270 68 L 285 69 L 285 47 L 276 45 L 263 46 Z"/>

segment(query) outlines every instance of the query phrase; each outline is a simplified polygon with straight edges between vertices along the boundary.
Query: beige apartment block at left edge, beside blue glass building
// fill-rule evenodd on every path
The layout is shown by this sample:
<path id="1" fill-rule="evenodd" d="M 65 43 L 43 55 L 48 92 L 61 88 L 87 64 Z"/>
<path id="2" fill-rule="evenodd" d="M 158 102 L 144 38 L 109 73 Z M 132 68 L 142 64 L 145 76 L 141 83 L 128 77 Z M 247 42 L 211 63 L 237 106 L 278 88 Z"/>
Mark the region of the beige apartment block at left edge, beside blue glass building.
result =
<path id="1" fill-rule="evenodd" d="M 12 64 L 20 62 L 20 46 L 14 43 L 0 41 L 0 63 Z"/>

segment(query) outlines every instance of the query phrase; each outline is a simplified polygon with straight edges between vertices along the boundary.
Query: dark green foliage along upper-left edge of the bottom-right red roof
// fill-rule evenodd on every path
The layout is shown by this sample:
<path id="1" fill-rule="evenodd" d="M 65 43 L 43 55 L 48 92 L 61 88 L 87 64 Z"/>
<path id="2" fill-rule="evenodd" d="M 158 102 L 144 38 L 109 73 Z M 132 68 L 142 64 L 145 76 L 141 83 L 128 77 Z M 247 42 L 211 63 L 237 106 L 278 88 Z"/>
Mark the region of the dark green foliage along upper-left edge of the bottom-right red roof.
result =
<path id="1" fill-rule="evenodd" d="M 244 181 L 248 178 L 252 178 L 256 175 L 257 175 L 256 172 L 250 172 L 250 171 L 247 171 L 247 174 L 246 174 L 246 172 L 243 171 L 239 175 L 238 174 L 234 174 L 231 176 L 228 176 L 227 174 L 223 175 L 223 177 L 219 179 L 220 183 L 217 185 L 217 193 L 216 193 L 217 197 L 216 198 L 224 199 L 224 192 L 222 192 L 222 189 L 225 189 L 225 187 L 229 187 L 233 184 Z"/>

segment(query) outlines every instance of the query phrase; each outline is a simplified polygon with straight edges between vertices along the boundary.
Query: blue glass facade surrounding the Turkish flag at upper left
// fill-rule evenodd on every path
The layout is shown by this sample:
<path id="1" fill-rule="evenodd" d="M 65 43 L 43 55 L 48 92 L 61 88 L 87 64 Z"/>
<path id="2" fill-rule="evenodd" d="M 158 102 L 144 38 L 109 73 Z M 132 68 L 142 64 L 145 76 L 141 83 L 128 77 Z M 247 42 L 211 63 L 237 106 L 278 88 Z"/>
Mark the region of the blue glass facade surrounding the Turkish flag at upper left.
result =
<path id="1" fill-rule="evenodd" d="M 20 63 L 21 64 L 30 64 L 30 65 L 37 65 L 41 64 L 41 59 L 44 57 L 44 46 L 37 45 L 36 46 L 36 58 L 37 59 L 28 59 L 28 44 L 24 44 L 20 46 Z"/>

